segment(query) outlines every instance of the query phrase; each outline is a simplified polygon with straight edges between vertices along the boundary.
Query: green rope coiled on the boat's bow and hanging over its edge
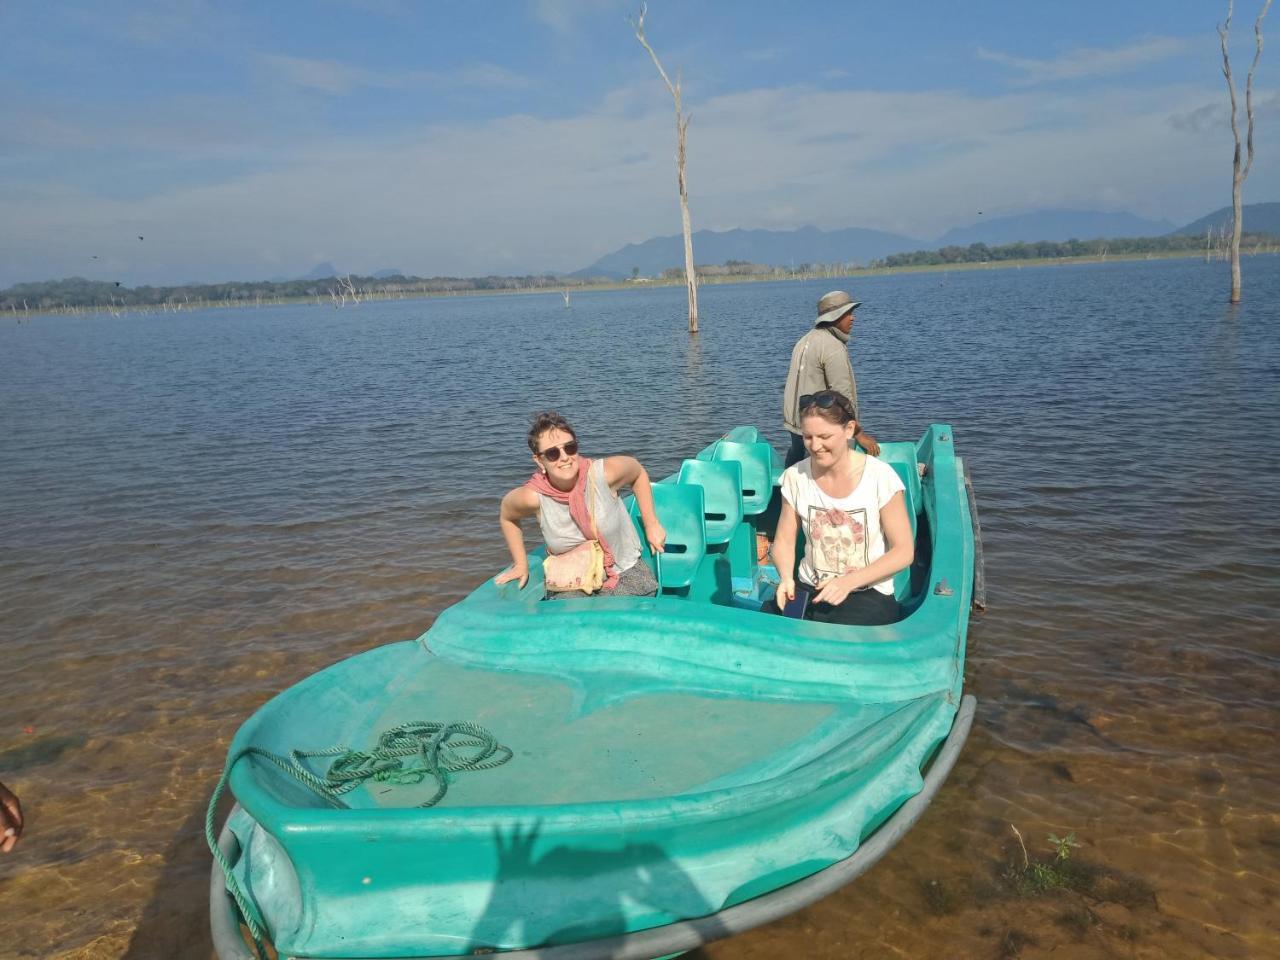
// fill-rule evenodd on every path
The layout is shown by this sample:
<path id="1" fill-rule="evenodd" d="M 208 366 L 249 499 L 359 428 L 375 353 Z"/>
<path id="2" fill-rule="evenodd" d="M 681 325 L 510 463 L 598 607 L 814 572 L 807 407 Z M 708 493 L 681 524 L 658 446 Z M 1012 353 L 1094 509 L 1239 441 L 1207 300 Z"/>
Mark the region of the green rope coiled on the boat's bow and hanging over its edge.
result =
<path id="1" fill-rule="evenodd" d="M 205 840 L 214 860 L 227 878 L 227 890 L 236 900 L 244 925 L 253 938 L 253 948 L 260 957 L 266 957 L 264 946 L 265 924 L 257 908 L 241 890 L 232 873 L 232 865 L 218 847 L 214 836 L 214 810 L 230 780 L 232 768 L 244 756 L 261 756 L 292 776 L 314 794 L 323 796 L 334 806 L 349 809 L 343 803 L 348 794 L 369 780 L 396 786 L 421 783 L 428 777 L 435 781 L 435 795 L 419 806 L 435 806 L 449 790 L 449 773 L 462 771 L 489 771 L 500 767 L 511 759 L 511 748 L 503 746 L 484 727 L 466 721 L 436 723 L 433 721 L 410 721 L 383 732 L 378 745 L 369 751 L 348 750 L 344 746 L 329 746 L 324 750 L 291 750 L 289 756 L 280 756 L 257 746 L 247 746 L 234 756 L 228 758 L 223 776 L 209 800 L 205 814 Z M 325 774 L 317 776 L 303 764 L 312 756 L 334 756 Z M 410 758 L 417 758 L 412 763 Z"/>

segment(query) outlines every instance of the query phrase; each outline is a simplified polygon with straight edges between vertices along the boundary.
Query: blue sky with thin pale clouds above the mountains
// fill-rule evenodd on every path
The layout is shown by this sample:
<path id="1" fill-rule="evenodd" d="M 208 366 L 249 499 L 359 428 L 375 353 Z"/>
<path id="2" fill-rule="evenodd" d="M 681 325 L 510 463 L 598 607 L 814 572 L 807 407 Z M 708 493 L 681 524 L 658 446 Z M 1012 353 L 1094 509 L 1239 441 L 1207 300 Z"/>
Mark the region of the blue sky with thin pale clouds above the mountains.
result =
<path id="1" fill-rule="evenodd" d="M 1240 90 L 1261 0 L 1231 29 Z M 571 271 L 680 232 L 621 0 L 0 0 L 0 287 Z M 1230 204 L 1208 0 L 652 0 L 694 229 Z M 1245 202 L 1280 200 L 1280 12 Z M 140 237 L 142 239 L 140 239 Z"/>

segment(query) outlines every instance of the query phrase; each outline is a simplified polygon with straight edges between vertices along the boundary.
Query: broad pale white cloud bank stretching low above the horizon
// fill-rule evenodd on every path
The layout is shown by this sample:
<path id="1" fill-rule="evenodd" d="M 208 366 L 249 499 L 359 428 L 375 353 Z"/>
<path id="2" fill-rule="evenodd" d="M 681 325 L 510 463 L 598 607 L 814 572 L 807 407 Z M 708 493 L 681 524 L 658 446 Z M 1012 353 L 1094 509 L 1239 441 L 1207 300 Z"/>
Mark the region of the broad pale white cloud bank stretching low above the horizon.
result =
<path id="1" fill-rule="evenodd" d="M 1169 118 L 1212 97 L 1208 86 L 714 97 L 689 131 L 694 228 L 928 238 L 975 210 L 1048 206 L 1189 220 L 1221 206 L 1229 161 Z M 357 273 L 577 269 L 680 230 L 669 106 L 643 101 L 625 88 L 572 118 L 431 127 L 394 145 L 312 140 L 274 169 L 128 202 L 22 184 L 0 193 L 0 285 L 86 273 L 91 253 L 129 284 L 300 274 L 320 250 Z M 1249 193 L 1277 191 L 1280 168 L 1257 164 Z"/>

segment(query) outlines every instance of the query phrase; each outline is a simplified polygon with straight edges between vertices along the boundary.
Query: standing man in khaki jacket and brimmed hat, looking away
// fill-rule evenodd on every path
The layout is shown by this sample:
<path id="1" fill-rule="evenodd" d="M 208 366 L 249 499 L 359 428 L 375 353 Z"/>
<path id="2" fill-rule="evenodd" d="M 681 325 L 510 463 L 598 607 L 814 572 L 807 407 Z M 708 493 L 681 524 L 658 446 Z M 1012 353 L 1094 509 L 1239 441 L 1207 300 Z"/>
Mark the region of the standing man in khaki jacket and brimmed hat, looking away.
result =
<path id="1" fill-rule="evenodd" d="M 858 433 L 854 440 L 873 457 L 879 453 L 876 438 L 863 430 L 858 412 L 858 381 L 854 365 L 849 361 L 849 332 L 854 325 L 854 311 L 863 302 L 844 291 L 824 293 L 818 301 L 818 320 L 791 351 L 791 369 L 787 385 L 782 390 L 782 422 L 791 434 L 787 466 L 799 463 L 806 456 L 800 430 L 800 398 L 820 390 L 840 390 L 854 404 Z"/>

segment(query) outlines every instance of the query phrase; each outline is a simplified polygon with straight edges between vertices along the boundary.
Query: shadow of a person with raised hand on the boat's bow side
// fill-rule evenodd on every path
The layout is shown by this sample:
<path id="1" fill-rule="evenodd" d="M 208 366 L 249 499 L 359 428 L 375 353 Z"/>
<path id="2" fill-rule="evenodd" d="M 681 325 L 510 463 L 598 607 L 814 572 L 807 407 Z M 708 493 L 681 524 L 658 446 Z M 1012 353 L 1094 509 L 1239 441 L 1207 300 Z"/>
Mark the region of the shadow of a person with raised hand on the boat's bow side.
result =
<path id="1" fill-rule="evenodd" d="M 498 870 L 471 952 L 622 937 L 716 909 L 657 844 L 626 844 L 620 836 L 612 849 L 561 845 L 535 855 L 540 833 L 540 820 L 517 823 L 506 836 L 494 829 Z M 707 940 L 726 933 L 709 919 Z"/>

